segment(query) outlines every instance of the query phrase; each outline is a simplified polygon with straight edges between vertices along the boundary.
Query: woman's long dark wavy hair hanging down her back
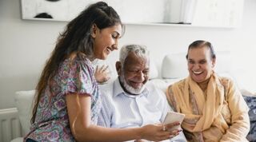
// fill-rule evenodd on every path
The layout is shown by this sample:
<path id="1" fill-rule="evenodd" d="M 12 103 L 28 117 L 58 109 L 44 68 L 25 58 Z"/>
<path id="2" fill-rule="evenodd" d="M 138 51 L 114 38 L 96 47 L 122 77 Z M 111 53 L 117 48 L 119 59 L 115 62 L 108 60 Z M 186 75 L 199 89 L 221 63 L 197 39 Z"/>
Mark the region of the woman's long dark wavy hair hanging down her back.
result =
<path id="1" fill-rule="evenodd" d="M 78 17 L 74 18 L 66 26 L 66 29 L 59 35 L 55 49 L 42 70 L 41 77 L 36 86 L 36 96 L 34 97 L 34 108 L 31 123 L 34 123 L 39 100 L 43 91 L 46 89 L 49 81 L 58 71 L 59 65 L 71 53 L 75 53 L 78 59 L 85 57 L 94 57 L 93 38 L 91 37 L 91 29 L 96 25 L 100 30 L 122 22 L 117 12 L 106 4 L 106 2 L 96 2 L 83 10 Z"/>

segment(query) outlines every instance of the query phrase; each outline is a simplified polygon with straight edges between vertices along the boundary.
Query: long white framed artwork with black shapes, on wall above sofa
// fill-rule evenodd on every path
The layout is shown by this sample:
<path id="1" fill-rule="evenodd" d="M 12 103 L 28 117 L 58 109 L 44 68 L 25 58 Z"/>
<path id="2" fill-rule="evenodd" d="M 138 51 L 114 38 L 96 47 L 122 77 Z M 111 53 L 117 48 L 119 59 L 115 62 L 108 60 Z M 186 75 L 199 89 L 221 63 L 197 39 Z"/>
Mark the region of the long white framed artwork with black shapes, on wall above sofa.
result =
<path id="1" fill-rule="evenodd" d="M 99 0 L 21 0 L 22 18 L 69 22 Z M 102 0 L 125 24 L 189 24 L 236 27 L 244 0 Z"/>

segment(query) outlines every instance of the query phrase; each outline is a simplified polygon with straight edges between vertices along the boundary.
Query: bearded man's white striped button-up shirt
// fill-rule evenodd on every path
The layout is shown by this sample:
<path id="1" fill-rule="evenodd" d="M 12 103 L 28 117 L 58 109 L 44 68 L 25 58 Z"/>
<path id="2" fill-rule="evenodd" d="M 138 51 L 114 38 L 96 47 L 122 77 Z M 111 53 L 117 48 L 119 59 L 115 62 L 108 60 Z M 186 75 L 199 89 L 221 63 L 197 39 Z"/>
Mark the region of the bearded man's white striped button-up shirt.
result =
<path id="1" fill-rule="evenodd" d="M 137 128 L 146 124 L 161 123 L 170 107 L 162 90 L 146 83 L 139 95 L 123 91 L 119 80 L 101 85 L 102 110 L 98 124 L 108 128 Z M 183 133 L 167 141 L 186 141 Z"/>

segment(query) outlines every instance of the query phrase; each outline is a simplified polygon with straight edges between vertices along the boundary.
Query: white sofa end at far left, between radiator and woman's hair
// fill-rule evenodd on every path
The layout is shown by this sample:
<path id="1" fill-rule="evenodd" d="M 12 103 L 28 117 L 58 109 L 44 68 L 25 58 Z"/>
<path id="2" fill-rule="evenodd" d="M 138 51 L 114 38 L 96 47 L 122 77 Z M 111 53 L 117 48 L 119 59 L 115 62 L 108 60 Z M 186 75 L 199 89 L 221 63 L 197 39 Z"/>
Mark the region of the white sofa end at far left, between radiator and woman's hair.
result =
<path id="1" fill-rule="evenodd" d="M 34 99 L 34 90 L 18 91 L 15 96 L 15 104 L 18 109 L 18 118 L 22 124 L 22 132 L 30 132 L 30 119 L 32 116 L 32 103 Z"/>

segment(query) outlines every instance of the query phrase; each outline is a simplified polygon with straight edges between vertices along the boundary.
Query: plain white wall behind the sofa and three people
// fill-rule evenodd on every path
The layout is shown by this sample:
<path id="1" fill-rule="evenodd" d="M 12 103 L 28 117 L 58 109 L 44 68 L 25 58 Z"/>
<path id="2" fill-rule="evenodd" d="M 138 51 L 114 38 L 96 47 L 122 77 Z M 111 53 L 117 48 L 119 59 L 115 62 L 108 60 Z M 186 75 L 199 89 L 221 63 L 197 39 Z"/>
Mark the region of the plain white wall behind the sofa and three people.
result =
<path id="1" fill-rule="evenodd" d="M 242 27 L 235 29 L 128 25 L 120 45 L 147 45 L 159 67 L 167 53 L 184 52 L 190 42 L 205 39 L 216 50 L 230 49 L 238 80 L 256 88 L 255 79 L 248 76 L 256 72 L 255 7 L 255 0 L 245 1 Z M 64 26 L 66 22 L 22 20 L 19 0 L 0 0 L 0 108 L 14 107 L 16 91 L 34 89 Z M 116 51 L 109 60 L 117 57 Z"/>

